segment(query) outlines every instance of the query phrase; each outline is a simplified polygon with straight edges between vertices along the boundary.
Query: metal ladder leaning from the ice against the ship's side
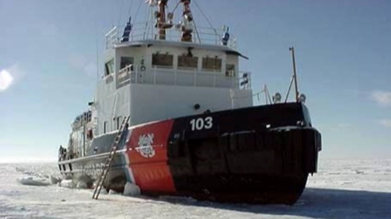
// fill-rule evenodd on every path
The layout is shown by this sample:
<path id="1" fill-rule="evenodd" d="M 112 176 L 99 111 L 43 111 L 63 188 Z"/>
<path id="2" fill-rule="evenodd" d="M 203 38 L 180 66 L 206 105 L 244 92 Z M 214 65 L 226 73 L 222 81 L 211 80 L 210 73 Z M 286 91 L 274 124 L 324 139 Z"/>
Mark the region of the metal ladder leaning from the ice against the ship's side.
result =
<path id="1" fill-rule="evenodd" d="M 124 120 L 122 120 L 121 127 L 118 130 L 118 133 L 117 133 L 117 136 L 115 137 L 113 145 L 111 146 L 109 155 L 106 159 L 106 163 L 104 164 L 104 167 L 103 167 L 103 171 L 100 174 L 98 183 L 97 183 L 95 190 L 94 190 L 94 194 L 92 195 L 93 199 L 98 199 L 100 190 L 103 187 L 104 180 L 106 180 L 106 176 L 110 170 L 111 163 L 113 162 L 115 152 L 117 152 L 118 144 L 120 143 L 122 136 L 124 135 L 124 131 L 129 127 L 128 122 L 129 122 L 129 117 L 125 117 Z"/>

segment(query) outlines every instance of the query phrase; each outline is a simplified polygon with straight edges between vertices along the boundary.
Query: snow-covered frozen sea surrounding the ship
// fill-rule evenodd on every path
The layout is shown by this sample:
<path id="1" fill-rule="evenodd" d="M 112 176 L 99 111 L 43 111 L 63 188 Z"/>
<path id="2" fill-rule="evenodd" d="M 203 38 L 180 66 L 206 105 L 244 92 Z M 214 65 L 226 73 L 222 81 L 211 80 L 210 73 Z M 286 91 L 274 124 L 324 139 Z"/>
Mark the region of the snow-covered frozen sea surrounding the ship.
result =
<path id="1" fill-rule="evenodd" d="M 0 164 L 0 218 L 350 218 L 391 219 L 391 159 L 324 160 L 293 206 L 221 204 L 189 198 L 126 197 L 22 177 L 58 175 L 56 164 Z"/>

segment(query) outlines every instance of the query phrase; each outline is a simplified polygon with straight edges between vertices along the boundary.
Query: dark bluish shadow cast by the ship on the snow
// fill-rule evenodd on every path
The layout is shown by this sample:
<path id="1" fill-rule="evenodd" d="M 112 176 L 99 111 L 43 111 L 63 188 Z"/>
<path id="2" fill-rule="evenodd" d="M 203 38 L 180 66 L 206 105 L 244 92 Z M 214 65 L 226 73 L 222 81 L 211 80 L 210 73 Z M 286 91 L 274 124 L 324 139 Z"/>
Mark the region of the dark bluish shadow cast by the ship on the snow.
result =
<path id="1" fill-rule="evenodd" d="M 255 214 L 292 215 L 313 218 L 388 218 L 391 215 L 391 193 L 339 189 L 305 189 L 293 206 L 225 204 L 190 201 L 176 197 L 161 198 L 170 203 L 236 210 Z"/>

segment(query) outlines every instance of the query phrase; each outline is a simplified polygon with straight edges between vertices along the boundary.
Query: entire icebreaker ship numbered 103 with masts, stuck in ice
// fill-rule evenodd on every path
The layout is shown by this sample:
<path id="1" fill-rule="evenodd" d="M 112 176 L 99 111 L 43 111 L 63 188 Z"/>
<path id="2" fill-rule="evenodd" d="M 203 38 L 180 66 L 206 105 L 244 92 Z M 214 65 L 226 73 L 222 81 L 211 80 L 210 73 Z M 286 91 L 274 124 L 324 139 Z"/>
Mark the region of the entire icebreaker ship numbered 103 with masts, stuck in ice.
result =
<path id="1" fill-rule="evenodd" d="M 95 192 L 132 184 L 147 196 L 293 205 L 321 150 L 296 68 L 294 100 L 265 86 L 255 106 L 229 28 L 195 25 L 195 1 L 172 12 L 168 2 L 146 1 L 151 19 L 106 34 L 104 74 L 60 148 L 61 174 Z"/>

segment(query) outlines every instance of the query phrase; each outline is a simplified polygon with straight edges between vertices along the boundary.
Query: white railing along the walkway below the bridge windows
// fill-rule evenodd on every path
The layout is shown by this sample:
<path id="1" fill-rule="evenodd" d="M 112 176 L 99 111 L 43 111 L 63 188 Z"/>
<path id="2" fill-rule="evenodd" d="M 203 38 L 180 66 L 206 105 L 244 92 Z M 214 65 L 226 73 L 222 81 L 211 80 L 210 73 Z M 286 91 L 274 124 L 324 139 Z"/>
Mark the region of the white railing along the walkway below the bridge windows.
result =
<path id="1" fill-rule="evenodd" d="M 128 65 L 116 74 L 117 88 L 129 83 L 153 85 L 181 85 L 192 87 L 220 87 L 232 89 L 251 89 L 251 73 L 239 72 L 239 77 L 231 72 L 226 76 L 222 72 L 205 72 L 183 69 L 168 69 L 154 66 L 145 69 Z"/>

